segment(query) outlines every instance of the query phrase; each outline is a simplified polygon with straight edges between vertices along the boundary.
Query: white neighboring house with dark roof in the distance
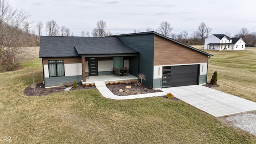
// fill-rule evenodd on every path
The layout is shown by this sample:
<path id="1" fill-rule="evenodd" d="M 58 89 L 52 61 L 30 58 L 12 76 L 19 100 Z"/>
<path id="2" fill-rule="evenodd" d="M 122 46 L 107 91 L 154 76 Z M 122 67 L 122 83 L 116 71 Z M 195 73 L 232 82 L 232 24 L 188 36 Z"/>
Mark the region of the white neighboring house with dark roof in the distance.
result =
<path id="1" fill-rule="evenodd" d="M 230 38 L 225 34 L 212 34 L 204 40 L 204 50 L 244 50 L 242 38 Z"/>

